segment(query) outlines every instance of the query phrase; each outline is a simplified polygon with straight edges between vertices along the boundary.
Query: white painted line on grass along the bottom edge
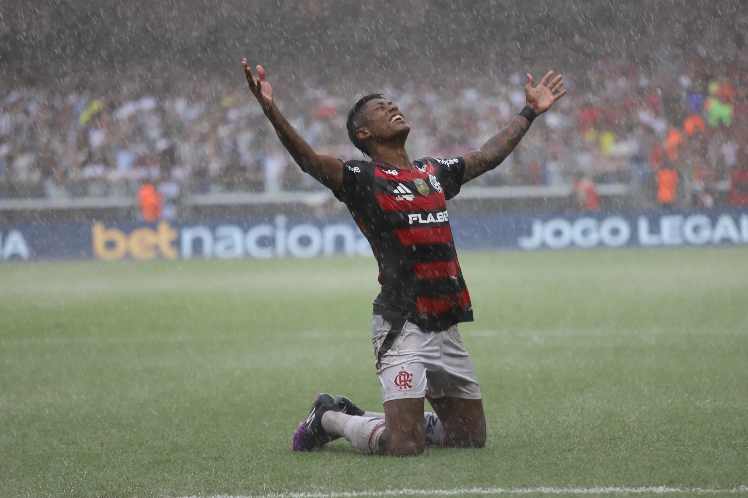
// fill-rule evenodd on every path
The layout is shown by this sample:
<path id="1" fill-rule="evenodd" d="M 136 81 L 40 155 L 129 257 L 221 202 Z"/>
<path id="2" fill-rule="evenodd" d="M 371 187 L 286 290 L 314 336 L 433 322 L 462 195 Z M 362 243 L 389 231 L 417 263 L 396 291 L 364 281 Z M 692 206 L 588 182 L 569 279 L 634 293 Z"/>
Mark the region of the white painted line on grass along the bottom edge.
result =
<path id="1" fill-rule="evenodd" d="M 648 488 L 472 488 L 472 489 L 396 489 L 384 491 L 352 491 L 349 493 L 271 493 L 259 495 L 215 494 L 209 497 L 181 498 L 358 498 L 358 497 L 403 497 L 436 496 L 449 497 L 460 494 L 748 494 L 748 486 L 730 489 L 668 488 L 652 486 Z"/>

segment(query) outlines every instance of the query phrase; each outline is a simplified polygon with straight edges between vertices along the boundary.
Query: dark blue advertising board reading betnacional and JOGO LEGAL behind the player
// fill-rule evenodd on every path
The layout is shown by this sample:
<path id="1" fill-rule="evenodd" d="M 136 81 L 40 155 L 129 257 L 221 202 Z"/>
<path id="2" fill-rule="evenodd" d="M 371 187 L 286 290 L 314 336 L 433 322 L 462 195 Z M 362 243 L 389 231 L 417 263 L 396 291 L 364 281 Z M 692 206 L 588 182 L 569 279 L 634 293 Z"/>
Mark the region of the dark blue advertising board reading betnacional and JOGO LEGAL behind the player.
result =
<path id="1" fill-rule="evenodd" d="M 748 245 L 748 209 L 450 216 L 459 250 Z M 371 256 L 351 218 L 0 224 L 0 260 Z"/>

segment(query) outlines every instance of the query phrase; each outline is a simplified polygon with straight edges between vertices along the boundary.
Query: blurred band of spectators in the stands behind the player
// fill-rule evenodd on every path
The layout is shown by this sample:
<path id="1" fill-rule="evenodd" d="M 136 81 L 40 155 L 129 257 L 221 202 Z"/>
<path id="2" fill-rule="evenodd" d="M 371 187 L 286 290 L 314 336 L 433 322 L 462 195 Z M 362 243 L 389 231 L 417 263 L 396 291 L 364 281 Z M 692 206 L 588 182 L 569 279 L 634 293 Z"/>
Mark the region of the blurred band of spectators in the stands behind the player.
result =
<path id="1" fill-rule="evenodd" d="M 748 167 L 748 43 L 704 41 L 586 63 L 562 68 L 568 95 L 476 184 L 584 179 L 654 192 L 667 169 L 678 184 L 674 202 L 688 205 L 708 203 L 731 170 Z M 402 109 L 414 159 L 476 149 L 524 105 L 521 70 L 467 85 L 394 81 L 385 76 L 360 93 L 332 82 L 276 84 L 275 96 L 316 151 L 342 159 L 361 157 L 345 120 L 363 93 L 380 91 Z M 150 183 L 168 211 L 186 194 L 321 188 L 292 163 L 240 72 L 233 82 L 157 83 L 124 80 L 108 93 L 5 87 L 0 198 L 135 196 Z"/>

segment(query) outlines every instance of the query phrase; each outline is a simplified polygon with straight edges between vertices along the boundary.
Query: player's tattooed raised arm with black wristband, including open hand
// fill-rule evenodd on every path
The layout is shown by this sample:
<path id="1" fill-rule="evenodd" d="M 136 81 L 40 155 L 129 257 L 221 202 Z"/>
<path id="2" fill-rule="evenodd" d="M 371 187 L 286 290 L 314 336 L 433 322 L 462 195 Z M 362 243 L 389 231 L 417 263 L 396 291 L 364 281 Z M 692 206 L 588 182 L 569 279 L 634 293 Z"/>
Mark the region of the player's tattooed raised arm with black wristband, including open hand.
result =
<path id="1" fill-rule="evenodd" d="M 548 111 L 551 105 L 554 105 L 558 99 L 566 94 L 566 90 L 559 92 L 563 86 L 562 76 L 556 78 L 549 84 L 548 81 L 554 76 L 553 71 L 540 81 L 540 84 L 533 88 L 533 76 L 527 74 L 527 86 L 524 87 L 524 93 L 527 97 L 527 107 L 531 112 L 522 110 L 521 114 L 515 116 L 506 128 L 502 129 L 480 149 L 465 154 L 465 173 L 462 176 L 462 183 L 469 182 L 471 179 L 480 176 L 486 171 L 490 171 L 501 164 L 506 156 L 512 153 L 524 134 L 530 129 L 530 123 L 535 116 Z M 534 115 L 533 115 L 534 114 Z"/>

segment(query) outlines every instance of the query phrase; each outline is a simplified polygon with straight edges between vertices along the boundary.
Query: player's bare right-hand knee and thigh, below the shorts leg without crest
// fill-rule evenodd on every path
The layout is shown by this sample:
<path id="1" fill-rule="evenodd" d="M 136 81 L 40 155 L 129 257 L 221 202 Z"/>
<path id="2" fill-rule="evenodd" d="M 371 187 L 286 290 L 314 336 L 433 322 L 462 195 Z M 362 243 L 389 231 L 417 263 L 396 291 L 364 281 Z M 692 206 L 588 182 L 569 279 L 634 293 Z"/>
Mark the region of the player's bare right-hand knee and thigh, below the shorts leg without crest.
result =
<path id="1" fill-rule="evenodd" d="M 485 414 L 480 399 L 451 396 L 429 399 L 444 425 L 445 446 L 453 448 L 482 448 L 485 446 Z"/>

